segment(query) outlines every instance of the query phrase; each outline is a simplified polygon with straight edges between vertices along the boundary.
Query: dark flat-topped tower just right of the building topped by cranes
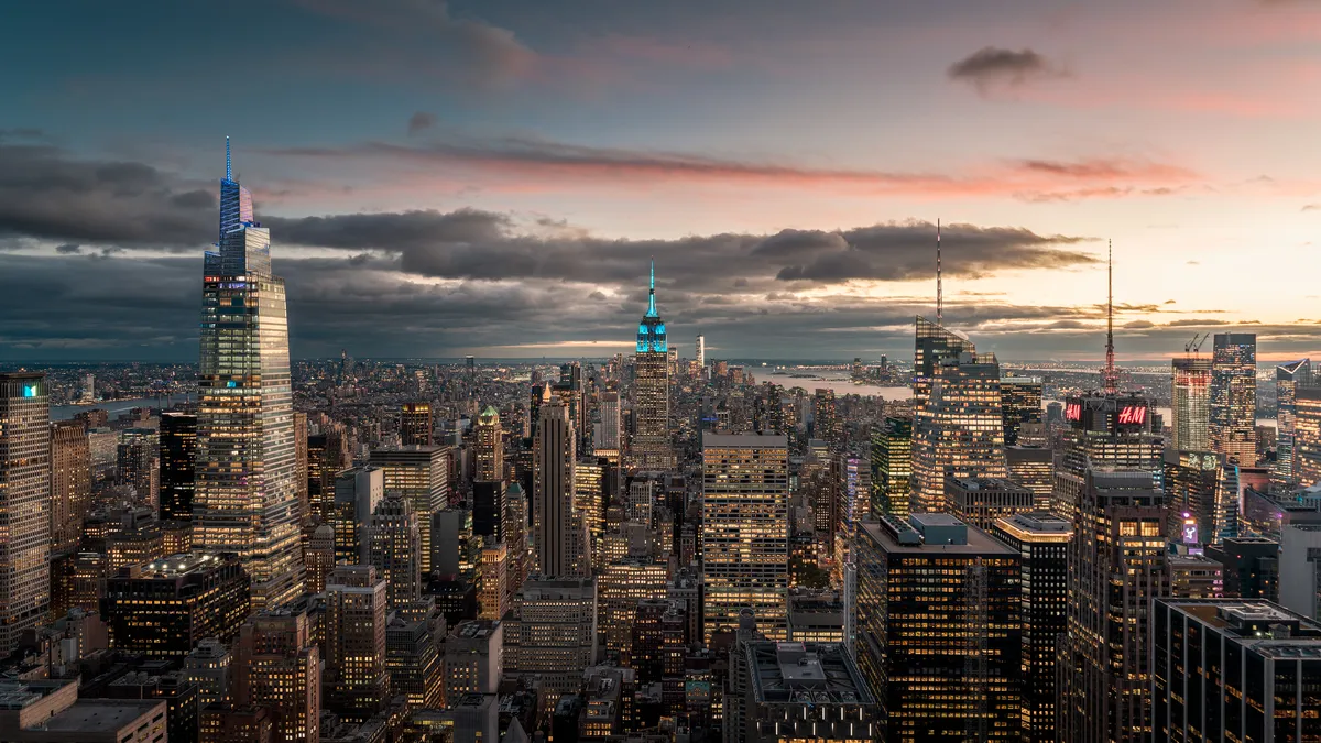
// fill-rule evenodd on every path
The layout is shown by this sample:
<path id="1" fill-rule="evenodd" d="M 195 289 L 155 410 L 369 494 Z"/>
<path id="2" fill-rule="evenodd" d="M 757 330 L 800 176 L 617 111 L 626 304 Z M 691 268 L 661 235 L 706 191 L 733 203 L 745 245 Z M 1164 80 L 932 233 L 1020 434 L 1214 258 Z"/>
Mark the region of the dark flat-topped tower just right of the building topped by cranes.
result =
<path id="1" fill-rule="evenodd" d="M 1211 451 L 1256 464 L 1256 333 L 1215 333 L 1211 357 Z"/>

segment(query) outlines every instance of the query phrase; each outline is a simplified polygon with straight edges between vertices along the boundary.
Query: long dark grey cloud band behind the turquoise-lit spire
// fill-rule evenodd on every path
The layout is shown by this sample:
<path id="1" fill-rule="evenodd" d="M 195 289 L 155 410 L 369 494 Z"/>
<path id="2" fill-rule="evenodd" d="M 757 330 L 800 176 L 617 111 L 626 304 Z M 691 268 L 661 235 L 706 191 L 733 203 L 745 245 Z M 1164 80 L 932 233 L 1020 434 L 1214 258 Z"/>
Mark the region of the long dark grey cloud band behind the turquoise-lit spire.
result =
<path id="1" fill-rule="evenodd" d="M 509 215 L 480 210 L 268 218 L 283 243 L 398 254 L 408 272 L 448 279 L 557 279 L 631 286 L 651 256 L 667 286 L 713 290 L 733 276 L 762 290 L 774 282 L 834 284 L 911 280 L 934 271 L 935 225 L 888 222 L 824 233 L 720 234 L 672 241 L 523 233 Z M 945 270 L 978 276 L 1004 270 L 1067 268 L 1095 258 L 1089 238 L 1024 227 L 948 225 Z"/>

